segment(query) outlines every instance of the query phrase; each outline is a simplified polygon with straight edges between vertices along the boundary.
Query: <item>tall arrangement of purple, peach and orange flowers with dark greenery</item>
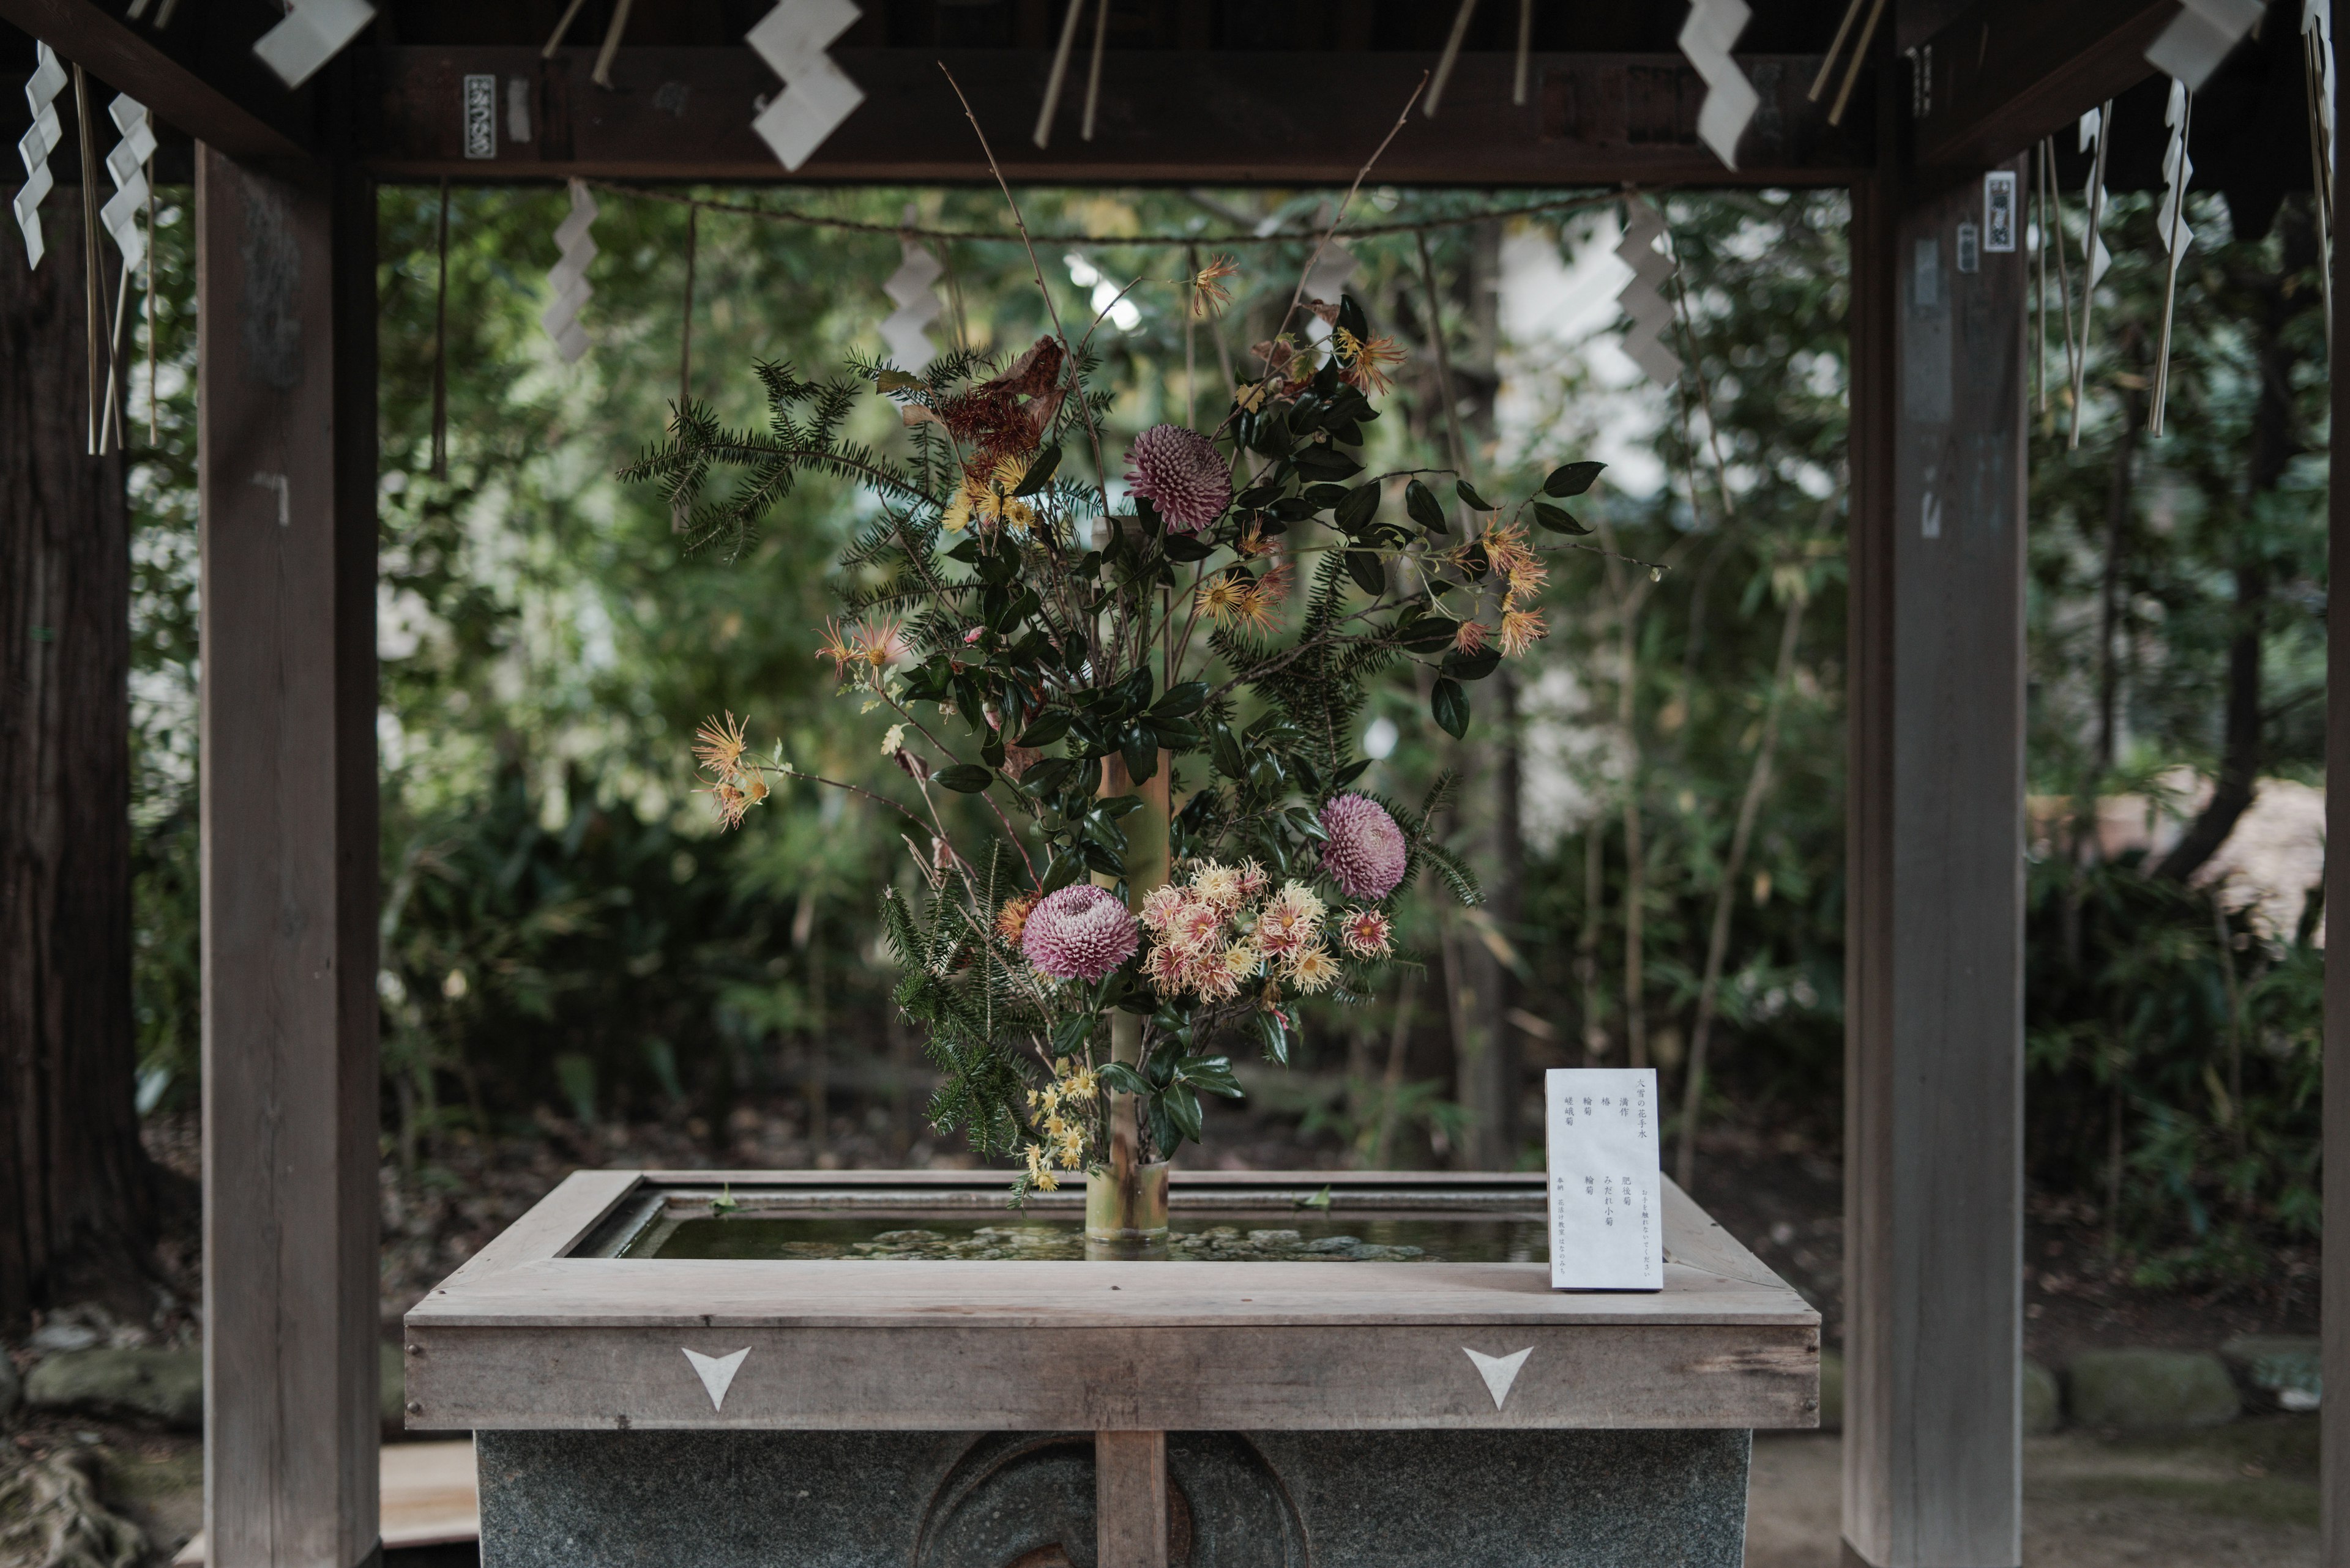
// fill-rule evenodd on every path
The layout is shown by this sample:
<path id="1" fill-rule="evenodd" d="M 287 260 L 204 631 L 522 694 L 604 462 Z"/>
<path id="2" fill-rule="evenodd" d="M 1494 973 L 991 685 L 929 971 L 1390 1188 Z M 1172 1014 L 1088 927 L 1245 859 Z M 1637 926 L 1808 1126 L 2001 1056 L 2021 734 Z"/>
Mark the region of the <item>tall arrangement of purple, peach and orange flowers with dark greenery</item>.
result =
<path id="1" fill-rule="evenodd" d="M 1215 310 L 1231 273 L 1182 280 L 1189 308 Z M 1351 296 L 1297 310 L 1321 343 L 1260 343 L 1215 428 L 1142 430 L 1123 463 L 1088 343 L 1055 331 L 1008 364 L 853 362 L 822 383 L 761 364 L 766 430 L 689 402 L 623 473 L 665 487 L 689 545 L 733 552 L 801 475 L 872 498 L 820 656 L 888 710 L 909 797 L 837 783 L 912 827 L 924 891 L 881 891 L 895 1001 L 945 1074 L 933 1124 L 1025 1157 L 1015 1194 L 1130 1180 L 1196 1140 L 1203 1095 L 1241 1093 L 1231 1041 L 1281 1063 L 1297 999 L 1363 997 L 1398 961 L 1424 867 L 1478 898 L 1434 830 L 1450 778 L 1415 806 L 1358 788 L 1361 710 L 1417 665 L 1436 724 L 1466 733 L 1466 686 L 1544 635 L 1528 524 L 1584 534 L 1558 501 L 1600 465 L 1506 512 L 1450 470 L 1365 475 L 1401 353 Z M 872 395 L 909 456 L 846 440 Z M 754 757 L 733 715 L 696 755 L 726 825 L 771 778 L 808 778 Z"/>

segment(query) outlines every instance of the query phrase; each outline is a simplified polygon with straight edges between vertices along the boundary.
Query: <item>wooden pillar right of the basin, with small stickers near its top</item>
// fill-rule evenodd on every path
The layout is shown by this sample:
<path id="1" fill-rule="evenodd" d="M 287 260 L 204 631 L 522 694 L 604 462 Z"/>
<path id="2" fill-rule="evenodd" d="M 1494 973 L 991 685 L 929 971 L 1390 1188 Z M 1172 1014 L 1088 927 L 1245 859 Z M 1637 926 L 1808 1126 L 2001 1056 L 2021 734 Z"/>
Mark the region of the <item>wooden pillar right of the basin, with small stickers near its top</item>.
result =
<path id="1" fill-rule="evenodd" d="M 2023 1552 L 2026 273 L 1983 219 L 1981 176 L 1854 190 L 1845 1561 L 1871 1568 Z"/>

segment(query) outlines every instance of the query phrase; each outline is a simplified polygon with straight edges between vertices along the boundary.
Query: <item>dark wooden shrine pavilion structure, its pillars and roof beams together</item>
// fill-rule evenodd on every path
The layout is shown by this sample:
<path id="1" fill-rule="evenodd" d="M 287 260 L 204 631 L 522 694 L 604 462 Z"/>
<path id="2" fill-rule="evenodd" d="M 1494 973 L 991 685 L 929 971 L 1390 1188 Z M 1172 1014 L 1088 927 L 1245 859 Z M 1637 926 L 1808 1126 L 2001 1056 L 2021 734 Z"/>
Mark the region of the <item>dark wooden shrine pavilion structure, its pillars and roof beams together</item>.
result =
<path id="1" fill-rule="evenodd" d="M 1532 9 L 1528 101 L 1518 7 L 1495 0 L 1379 181 L 1852 190 L 1842 1535 L 1847 1563 L 2014 1568 L 2028 289 L 2021 247 L 1979 270 L 1955 247 L 1986 172 L 2021 172 L 2155 75 L 2146 49 L 2181 0 L 1878 5 L 1840 127 L 1807 89 L 1845 0 L 1753 0 L 1737 59 L 1760 108 L 1737 169 L 1697 136 L 1683 5 Z M 637 7 L 609 87 L 592 73 L 611 0 L 543 56 L 559 12 L 378 0 L 289 92 L 254 56 L 277 0 L 0 0 L 0 21 L 197 143 L 207 1535 L 226 1568 L 378 1554 L 376 183 L 985 181 L 940 59 L 1013 181 L 1344 183 L 1455 19 L 1116 0 L 1097 136 L 1065 113 L 1039 150 L 1058 0 L 870 0 L 832 47 L 865 106 L 785 176 L 752 134 L 780 85 L 743 45 L 768 0 Z M 2280 0 L 2268 28 L 2298 12 Z M 482 82 L 486 143 L 479 101 L 468 120 Z M 2334 538 L 2350 574 L 2350 484 Z M 2350 743 L 2350 632 L 2334 649 Z M 2350 790 L 2334 804 L 2350 842 Z M 2350 858 L 2326 889 L 2350 907 Z M 2326 1058 L 2326 1145 L 2345 1152 L 2326 1293 L 2350 1300 L 2350 966 L 2329 980 Z M 2350 1389 L 2350 1314 L 2326 1321 L 2326 1363 Z M 2350 1401 L 2324 1420 L 2324 1561 L 2350 1566 Z"/>

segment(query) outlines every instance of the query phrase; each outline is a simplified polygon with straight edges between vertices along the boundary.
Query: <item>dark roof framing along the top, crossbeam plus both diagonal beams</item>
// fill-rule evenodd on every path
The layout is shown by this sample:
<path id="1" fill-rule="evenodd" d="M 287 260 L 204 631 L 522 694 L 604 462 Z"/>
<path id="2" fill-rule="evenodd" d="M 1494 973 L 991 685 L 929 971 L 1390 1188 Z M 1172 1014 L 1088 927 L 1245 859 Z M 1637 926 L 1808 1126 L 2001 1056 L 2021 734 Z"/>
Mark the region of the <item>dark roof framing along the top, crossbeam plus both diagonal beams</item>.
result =
<path id="1" fill-rule="evenodd" d="M 538 26 L 531 7 L 498 12 L 496 26 L 470 28 L 463 42 L 435 42 L 439 28 L 418 24 L 446 7 L 392 5 L 345 52 L 334 92 L 289 94 L 251 54 L 254 38 L 282 19 L 277 5 L 219 0 L 183 14 L 169 33 L 157 33 L 153 19 L 129 21 L 127 5 L 0 0 L 0 21 L 49 40 L 146 101 L 164 125 L 240 158 L 352 160 L 383 179 L 982 181 L 968 127 L 938 82 L 938 61 L 947 59 L 989 129 L 1001 127 L 999 155 L 1020 181 L 1337 183 L 1354 176 L 1394 103 L 1434 61 L 1415 47 L 1370 47 L 1365 33 L 1363 47 L 1335 54 L 1344 61 L 1344 92 L 1325 94 L 1307 113 L 1302 82 L 1328 71 L 1330 52 L 1196 47 L 1210 28 L 1161 28 L 1163 42 L 1177 47 L 1112 49 L 1097 139 L 1079 141 L 1069 125 L 1050 150 L 1039 150 L 1022 132 L 1043 94 L 1048 49 L 1027 47 L 1025 33 L 1013 47 L 985 49 L 916 47 L 895 33 L 879 42 L 884 28 L 870 19 L 834 49 L 865 89 L 865 106 L 799 176 L 787 176 L 750 132 L 754 106 L 778 82 L 747 47 L 623 45 L 613 85 L 597 87 L 588 80 L 592 35 L 583 33 L 555 59 L 519 42 Z M 1974 0 L 1932 9 L 1955 14 L 1932 31 L 1913 63 L 1894 66 L 1899 80 L 1882 89 L 1911 96 L 1920 165 L 1979 167 L 2146 78 L 2146 42 L 2176 16 L 2178 0 Z M 1800 16 L 1758 16 L 1751 33 L 1800 45 L 1821 31 L 1814 21 L 1833 26 L 1838 12 L 1802 0 Z M 731 26 L 733 14 L 724 21 Z M 691 35 L 721 33 L 703 26 Z M 479 42 L 508 35 L 515 42 Z M 1654 45 L 1647 33 L 1624 38 Z M 1826 47 L 1826 35 L 1814 47 Z M 1875 167 L 1878 115 L 1854 108 L 1842 127 L 1828 127 L 1824 106 L 1807 99 L 1817 56 L 1741 54 L 1739 63 L 1762 94 L 1739 169 L 1725 169 L 1697 141 L 1704 82 L 1678 54 L 1535 54 L 1537 89 L 1520 108 L 1511 103 L 1513 56 L 1471 49 L 1459 59 L 1443 115 L 1415 115 L 1379 174 L 1417 186 L 1842 186 Z M 484 75 L 498 82 L 496 150 L 482 158 L 475 139 L 468 158 L 463 85 Z M 519 99 L 510 96 L 517 80 Z M 1871 92 L 1864 82 L 1864 101 Z M 512 134 L 524 122 L 529 139 Z"/>

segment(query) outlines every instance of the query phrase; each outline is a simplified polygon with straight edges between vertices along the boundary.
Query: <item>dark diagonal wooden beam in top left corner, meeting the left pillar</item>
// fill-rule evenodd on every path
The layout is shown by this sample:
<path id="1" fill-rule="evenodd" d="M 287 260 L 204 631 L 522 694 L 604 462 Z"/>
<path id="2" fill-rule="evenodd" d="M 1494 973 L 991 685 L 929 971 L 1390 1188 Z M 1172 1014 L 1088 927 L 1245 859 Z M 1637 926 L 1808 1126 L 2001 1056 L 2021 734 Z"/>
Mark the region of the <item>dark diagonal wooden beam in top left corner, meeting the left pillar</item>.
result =
<path id="1" fill-rule="evenodd" d="M 310 94 L 287 92 L 254 59 L 254 40 L 284 19 L 277 5 L 223 0 L 162 33 L 96 0 L 0 0 L 12 21 L 115 92 L 233 158 L 284 162 L 317 150 Z"/>

